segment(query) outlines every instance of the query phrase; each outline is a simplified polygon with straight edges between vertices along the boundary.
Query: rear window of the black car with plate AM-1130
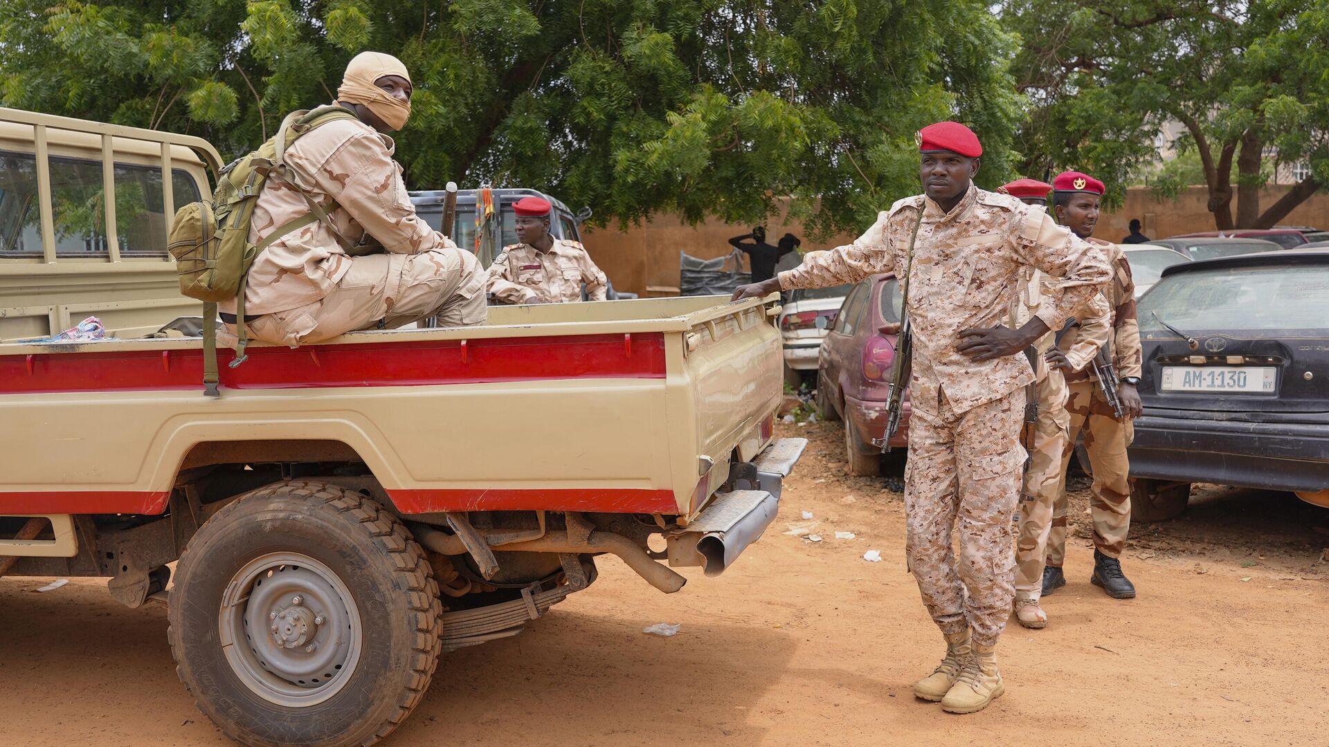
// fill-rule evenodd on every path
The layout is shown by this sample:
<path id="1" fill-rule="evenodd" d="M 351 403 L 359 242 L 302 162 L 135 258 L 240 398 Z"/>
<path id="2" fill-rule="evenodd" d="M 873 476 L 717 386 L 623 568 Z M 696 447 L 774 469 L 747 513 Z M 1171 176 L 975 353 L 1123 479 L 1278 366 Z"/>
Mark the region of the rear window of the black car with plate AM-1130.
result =
<path id="1" fill-rule="evenodd" d="M 1155 314 L 1158 318 L 1155 318 Z M 1329 319 L 1329 265 L 1213 267 L 1163 278 L 1139 302 L 1142 332 L 1312 330 Z"/>

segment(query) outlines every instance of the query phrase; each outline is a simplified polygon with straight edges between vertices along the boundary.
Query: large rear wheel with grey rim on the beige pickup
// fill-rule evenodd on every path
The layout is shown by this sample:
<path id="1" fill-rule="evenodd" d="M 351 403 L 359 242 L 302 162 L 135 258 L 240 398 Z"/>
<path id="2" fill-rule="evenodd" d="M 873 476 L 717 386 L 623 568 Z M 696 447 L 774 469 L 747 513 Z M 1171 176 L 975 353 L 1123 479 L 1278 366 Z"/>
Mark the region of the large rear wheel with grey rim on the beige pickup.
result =
<path id="1" fill-rule="evenodd" d="M 360 493 L 268 485 L 181 554 L 167 638 L 195 706 L 251 746 L 372 744 L 439 662 L 439 585 L 420 545 Z"/>

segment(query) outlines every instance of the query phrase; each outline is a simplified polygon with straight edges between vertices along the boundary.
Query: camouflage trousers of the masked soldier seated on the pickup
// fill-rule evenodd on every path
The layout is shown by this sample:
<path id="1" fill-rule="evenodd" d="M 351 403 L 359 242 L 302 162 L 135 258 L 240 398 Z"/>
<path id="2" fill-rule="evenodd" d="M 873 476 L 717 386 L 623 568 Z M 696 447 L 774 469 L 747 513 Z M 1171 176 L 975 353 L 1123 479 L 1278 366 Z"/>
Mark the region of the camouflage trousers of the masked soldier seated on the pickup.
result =
<path id="1" fill-rule="evenodd" d="M 380 323 L 396 328 L 427 316 L 437 316 L 440 327 L 469 327 L 484 324 L 486 314 L 480 261 L 464 249 L 445 247 L 356 257 L 331 294 L 253 318 L 249 334 L 296 347 Z"/>

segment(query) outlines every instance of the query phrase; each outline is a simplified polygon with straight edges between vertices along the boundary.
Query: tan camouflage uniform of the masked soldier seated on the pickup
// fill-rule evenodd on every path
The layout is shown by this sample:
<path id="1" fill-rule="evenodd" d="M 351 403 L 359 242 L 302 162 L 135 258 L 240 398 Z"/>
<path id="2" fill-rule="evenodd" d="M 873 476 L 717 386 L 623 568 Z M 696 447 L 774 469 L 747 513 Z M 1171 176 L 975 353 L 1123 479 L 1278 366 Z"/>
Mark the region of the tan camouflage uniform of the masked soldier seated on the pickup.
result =
<path id="1" fill-rule="evenodd" d="M 310 223 L 254 259 L 245 291 L 253 336 L 295 347 L 380 322 L 396 327 L 432 315 L 448 326 L 485 322 L 484 268 L 416 215 L 392 152 L 392 138 L 356 120 L 328 122 L 286 152 L 306 191 L 338 209 L 328 214 L 332 229 Z M 308 211 L 299 191 L 268 179 L 249 239 Z M 348 255 L 343 242 L 365 254 Z M 235 312 L 234 302 L 219 307 Z"/>

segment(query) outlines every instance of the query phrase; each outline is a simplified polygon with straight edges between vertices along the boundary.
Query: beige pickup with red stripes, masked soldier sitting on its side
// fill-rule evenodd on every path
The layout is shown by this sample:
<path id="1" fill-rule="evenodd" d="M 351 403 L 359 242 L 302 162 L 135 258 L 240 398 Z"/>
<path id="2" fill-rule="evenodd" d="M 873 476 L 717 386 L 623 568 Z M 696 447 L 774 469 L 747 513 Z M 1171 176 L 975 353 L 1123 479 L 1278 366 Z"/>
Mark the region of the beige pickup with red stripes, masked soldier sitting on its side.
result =
<path id="1" fill-rule="evenodd" d="M 720 573 L 762 534 L 805 445 L 772 435 L 777 311 L 494 307 L 223 348 L 217 397 L 198 338 L 0 344 L 0 574 L 165 603 L 242 743 L 373 743 L 441 653 L 517 634 L 597 558 L 672 593 L 670 566 Z"/>

